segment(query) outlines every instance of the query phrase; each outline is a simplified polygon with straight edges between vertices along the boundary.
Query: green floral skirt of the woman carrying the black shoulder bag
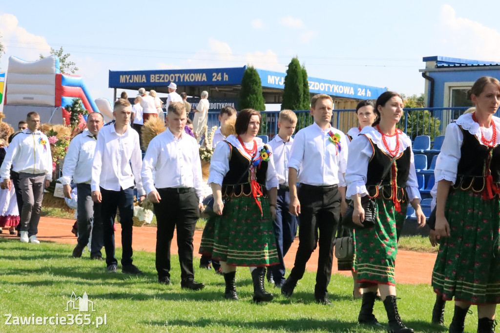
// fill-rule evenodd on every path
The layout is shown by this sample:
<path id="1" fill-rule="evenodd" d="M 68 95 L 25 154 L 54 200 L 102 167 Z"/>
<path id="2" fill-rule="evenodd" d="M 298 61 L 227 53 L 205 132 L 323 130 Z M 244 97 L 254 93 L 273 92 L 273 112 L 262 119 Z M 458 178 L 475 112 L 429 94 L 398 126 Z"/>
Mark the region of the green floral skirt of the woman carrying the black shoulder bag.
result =
<path id="1" fill-rule="evenodd" d="M 362 287 L 373 284 L 394 285 L 394 265 L 397 239 L 406 218 L 406 203 L 401 211 L 394 208 L 392 200 L 375 199 L 377 219 L 371 228 L 354 231 L 354 270 Z"/>

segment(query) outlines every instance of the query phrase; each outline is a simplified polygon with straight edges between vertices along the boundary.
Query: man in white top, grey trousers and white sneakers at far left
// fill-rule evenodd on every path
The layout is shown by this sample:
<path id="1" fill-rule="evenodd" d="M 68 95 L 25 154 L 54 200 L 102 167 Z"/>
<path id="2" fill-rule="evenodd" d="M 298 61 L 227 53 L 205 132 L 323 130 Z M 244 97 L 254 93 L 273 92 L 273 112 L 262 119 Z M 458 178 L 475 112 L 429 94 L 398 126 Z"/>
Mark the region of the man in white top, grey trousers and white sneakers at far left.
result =
<path id="1" fill-rule="evenodd" d="M 10 189 L 10 166 L 19 173 L 19 187 L 22 194 L 20 211 L 21 242 L 39 243 L 36 239 L 40 221 L 43 189 L 52 180 L 52 156 L 45 134 L 38 130 L 40 116 L 29 112 L 26 116 L 28 128 L 12 138 L 0 167 L 3 187 Z"/>

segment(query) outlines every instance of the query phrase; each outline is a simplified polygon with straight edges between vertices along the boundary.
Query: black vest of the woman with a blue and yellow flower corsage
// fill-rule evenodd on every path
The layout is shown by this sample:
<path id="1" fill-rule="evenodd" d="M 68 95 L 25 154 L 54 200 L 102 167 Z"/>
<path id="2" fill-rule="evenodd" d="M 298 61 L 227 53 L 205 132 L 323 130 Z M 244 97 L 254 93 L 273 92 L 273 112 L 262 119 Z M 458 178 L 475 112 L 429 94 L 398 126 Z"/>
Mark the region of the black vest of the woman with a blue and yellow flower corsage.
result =
<path id="1" fill-rule="evenodd" d="M 250 159 L 243 155 L 238 148 L 224 140 L 229 145 L 229 171 L 222 180 L 222 197 L 229 196 L 251 196 L 250 187 Z M 267 146 L 264 145 L 267 149 Z M 257 150 L 257 156 L 259 151 Z M 260 185 L 262 196 L 267 196 L 265 189 L 265 178 L 267 163 L 262 160 L 260 166 L 255 168 L 255 180 Z"/>

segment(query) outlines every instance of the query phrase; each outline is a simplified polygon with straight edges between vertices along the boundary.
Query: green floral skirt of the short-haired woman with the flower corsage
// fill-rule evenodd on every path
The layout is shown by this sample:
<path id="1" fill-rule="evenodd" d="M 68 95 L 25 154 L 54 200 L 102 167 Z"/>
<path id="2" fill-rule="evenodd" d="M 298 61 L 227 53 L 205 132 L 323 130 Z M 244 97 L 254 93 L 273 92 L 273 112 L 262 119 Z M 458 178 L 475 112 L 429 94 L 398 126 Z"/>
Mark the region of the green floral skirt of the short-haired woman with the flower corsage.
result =
<path id="1" fill-rule="evenodd" d="M 253 197 L 226 198 L 222 215 L 206 222 L 199 253 L 233 266 L 278 264 L 269 203 L 260 202 L 262 216 Z"/>

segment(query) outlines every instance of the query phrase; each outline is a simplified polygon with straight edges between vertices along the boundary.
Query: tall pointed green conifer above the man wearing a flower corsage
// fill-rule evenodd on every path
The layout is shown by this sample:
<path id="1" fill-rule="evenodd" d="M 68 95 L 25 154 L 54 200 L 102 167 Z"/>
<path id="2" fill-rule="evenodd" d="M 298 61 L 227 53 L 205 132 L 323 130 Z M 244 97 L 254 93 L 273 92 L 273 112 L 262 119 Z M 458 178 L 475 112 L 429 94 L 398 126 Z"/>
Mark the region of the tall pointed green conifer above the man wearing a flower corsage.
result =
<path id="1" fill-rule="evenodd" d="M 293 57 L 288 64 L 286 76 L 284 77 L 283 101 L 281 102 L 282 110 L 299 110 L 302 108 L 304 90 L 302 77 L 302 67 L 300 67 L 298 58 Z"/>

